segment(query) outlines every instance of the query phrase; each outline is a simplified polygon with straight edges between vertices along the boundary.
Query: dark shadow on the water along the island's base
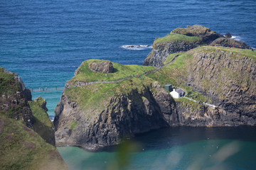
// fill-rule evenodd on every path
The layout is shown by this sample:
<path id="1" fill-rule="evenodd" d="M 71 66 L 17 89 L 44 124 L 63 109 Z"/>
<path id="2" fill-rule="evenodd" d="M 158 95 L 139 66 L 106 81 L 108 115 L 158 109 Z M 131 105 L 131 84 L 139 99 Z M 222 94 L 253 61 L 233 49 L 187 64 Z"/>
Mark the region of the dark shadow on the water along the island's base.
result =
<path id="1" fill-rule="evenodd" d="M 124 145 L 132 142 L 139 150 L 169 149 L 174 146 L 187 145 L 200 140 L 240 140 L 256 142 L 256 127 L 215 127 L 215 128 L 191 128 L 171 127 L 151 130 L 138 134 L 135 137 L 124 140 Z M 88 152 L 117 152 L 120 145 L 100 147 L 98 149 L 85 149 Z M 135 149 L 134 151 L 137 151 Z"/>

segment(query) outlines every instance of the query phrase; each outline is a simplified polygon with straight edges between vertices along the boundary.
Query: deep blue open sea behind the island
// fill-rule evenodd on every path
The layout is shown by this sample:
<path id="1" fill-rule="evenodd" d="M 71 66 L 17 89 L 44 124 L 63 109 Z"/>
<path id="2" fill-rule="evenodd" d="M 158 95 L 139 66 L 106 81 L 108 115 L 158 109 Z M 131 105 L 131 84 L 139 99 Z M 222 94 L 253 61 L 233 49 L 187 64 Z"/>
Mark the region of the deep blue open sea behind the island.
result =
<path id="1" fill-rule="evenodd" d="M 151 49 L 124 45 L 152 45 L 174 28 L 193 24 L 256 47 L 255 0 L 1 0 L 0 67 L 16 72 L 27 88 L 60 88 L 84 60 L 142 64 Z M 49 115 L 61 94 L 32 93 L 46 98 Z"/>

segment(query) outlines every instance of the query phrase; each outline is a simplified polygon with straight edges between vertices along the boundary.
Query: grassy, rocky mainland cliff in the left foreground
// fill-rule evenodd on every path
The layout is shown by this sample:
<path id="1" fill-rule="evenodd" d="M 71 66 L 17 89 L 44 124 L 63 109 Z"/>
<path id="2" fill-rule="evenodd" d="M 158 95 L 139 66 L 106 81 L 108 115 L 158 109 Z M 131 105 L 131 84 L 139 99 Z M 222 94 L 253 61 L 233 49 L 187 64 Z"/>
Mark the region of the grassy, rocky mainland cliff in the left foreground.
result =
<path id="1" fill-rule="evenodd" d="M 1 169 L 68 169 L 55 147 L 46 100 L 31 97 L 17 74 L 0 67 Z"/>

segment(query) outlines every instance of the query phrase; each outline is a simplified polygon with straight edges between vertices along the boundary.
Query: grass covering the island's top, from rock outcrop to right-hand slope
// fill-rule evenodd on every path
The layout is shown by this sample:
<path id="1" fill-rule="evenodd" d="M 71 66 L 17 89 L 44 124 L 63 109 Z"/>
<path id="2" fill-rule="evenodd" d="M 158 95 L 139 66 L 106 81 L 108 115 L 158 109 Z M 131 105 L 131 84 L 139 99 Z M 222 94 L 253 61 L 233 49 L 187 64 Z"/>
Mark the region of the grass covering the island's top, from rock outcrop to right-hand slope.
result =
<path id="1" fill-rule="evenodd" d="M 78 86 L 65 89 L 65 94 L 71 101 L 80 103 L 80 106 L 93 109 L 104 108 L 110 98 L 114 94 L 118 94 L 118 91 L 122 91 L 122 93 L 125 94 L 125 91 L 133 91 L 133 88 L 140 89 L 140 86 L 144 86 L 144 84 L 152 81 L 158 81 L 162 86 L 165 84 L 173 84 L 176 87 L 181 87 L 190 94 L 189 96 L 191 96 L 191 98 L 200 101 L 206 101 L 207 98 L 210 98 L 206 95 L 208 91 L 214 91 L 214 94 L 217 95 L 219 99 L 223 98 L 223 89 L 227 88 L 227 82 L 229 81 L 239 86 L 247 86 L 248 84 L 252 86 L 249 91 L 253 92 L 255 81 L 250 80 L 248 77 L 250 74 L 248 69 L 253 69 L 251 64 L 255 61 L 256 52 L 229 47 L 203 46 L 188 52 L 171 54 L 166 58 L 164 64 L 168 64 L 171 60 L 174 60 L 174 57 L 177 57 L 174 63 L 154 73 L 146 74 L 146 76 L 139 79 L 132 77 L 131 79 L 116 84 L 102 83 Z M 250 60 L 247 61 L 245 58 Z M 247 64 L 242 64 L 245 60 Z M 95 60 L 87 60 L 83 62 L 78 68 L 79 74 L 70 81 L 87 81 L 89 79 L 94 81 L 100 79 L 113 81 L 127 77 L 131 72 L 143 74 L 143 71 L 146 72 L 152 68 L 154 70 L 154 67 L 113 63 L 115 72 L 107 73 L 106 76 L 105 73 L 92 72 L 88 68 L 88 63 L 94 61 Z M 243 68 L 245 69 L 241 70 Z M 241 73 L 238 72 L 238 69 L 240 69 Z M 191 77 L 193 77 L 193 79 L 191 79 Z M 194 83 L 195 86 L 186 86 L 188 83 Z M 199 93 L 195 91 L 196 88 L 201 89 L 201 92 L 205 92 Z"/>

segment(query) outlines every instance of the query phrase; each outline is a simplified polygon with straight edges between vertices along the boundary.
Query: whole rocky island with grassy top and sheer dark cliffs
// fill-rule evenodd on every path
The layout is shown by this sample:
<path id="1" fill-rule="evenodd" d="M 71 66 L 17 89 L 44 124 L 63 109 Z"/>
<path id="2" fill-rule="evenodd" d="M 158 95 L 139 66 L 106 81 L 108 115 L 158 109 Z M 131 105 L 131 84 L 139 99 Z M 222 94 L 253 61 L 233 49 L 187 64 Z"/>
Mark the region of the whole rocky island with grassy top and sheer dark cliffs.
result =
<path id="1" fill-rule="evenodd" d="M 256 52 L 245 48 L 196 25 L 157 38 L 144 66 L 82 62 L 55 107 L 56 145 L 95 149 L 163 127 L 256 125 Z M 186 98 L 172 98 L 166 84 Z"/>

